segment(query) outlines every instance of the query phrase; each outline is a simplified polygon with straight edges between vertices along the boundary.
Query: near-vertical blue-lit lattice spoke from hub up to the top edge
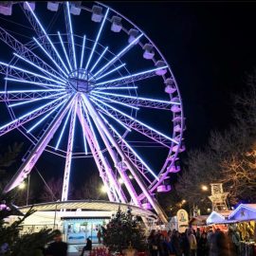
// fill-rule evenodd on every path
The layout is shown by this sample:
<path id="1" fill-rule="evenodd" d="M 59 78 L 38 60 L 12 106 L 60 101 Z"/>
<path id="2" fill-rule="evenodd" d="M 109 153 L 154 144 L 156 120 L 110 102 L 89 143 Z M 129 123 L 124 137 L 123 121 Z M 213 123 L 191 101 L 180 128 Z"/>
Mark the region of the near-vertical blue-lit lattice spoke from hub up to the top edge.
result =
<path id="1" fill-rule="evenodd" d="M 73 33 L 73 27 L 72 27 L 72 21 L 71 21 L 70 9 L 69 9 L 69 2 L 65 2 L 64 15 L 65 15 L 65 27 L 66 27 L 68 45 L 69 45 L 69 58 L 72 61 L 73 67 L 77 69 L 77 57 L 76 57 L 74 33 Z M 72 52 L 70 51 L 70 46 L 72 48 Z"/>

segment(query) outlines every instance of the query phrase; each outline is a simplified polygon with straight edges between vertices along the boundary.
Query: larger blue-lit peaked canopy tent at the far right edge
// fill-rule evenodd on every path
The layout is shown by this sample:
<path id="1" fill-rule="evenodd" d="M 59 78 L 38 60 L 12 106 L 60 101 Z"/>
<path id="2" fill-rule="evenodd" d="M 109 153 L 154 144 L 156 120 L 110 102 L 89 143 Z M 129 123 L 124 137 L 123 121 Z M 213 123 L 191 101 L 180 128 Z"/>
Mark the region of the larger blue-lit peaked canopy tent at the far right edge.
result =
<path id="1" fill-rule="evenodd" d="M 241 204 L 229 214 L 229 221 L 240 222 L 251 220 L 256 220 L 256 204 Z"/>

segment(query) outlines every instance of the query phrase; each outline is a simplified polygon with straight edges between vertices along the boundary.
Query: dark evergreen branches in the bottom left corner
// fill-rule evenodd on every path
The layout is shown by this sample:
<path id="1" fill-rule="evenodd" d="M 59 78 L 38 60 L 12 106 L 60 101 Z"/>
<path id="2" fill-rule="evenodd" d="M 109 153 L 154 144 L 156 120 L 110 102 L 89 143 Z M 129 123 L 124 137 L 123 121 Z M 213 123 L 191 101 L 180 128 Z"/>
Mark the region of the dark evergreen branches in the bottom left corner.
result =
<path id="1" fill-rule="evenodd" d="M 34 210 L 30 209 L 17 221 L 9 225 L 5 221 L 10 215 L 21 215 L 11 204 L 9 195 L 0 195 L 0 255 L 5 256 L 43 256 L 41 248 L 52 241 L 55 234 L 50 229 L 42 229 L 36 233 L 20 235 L 20 229 L 24 220 L 31 215 Z"/>

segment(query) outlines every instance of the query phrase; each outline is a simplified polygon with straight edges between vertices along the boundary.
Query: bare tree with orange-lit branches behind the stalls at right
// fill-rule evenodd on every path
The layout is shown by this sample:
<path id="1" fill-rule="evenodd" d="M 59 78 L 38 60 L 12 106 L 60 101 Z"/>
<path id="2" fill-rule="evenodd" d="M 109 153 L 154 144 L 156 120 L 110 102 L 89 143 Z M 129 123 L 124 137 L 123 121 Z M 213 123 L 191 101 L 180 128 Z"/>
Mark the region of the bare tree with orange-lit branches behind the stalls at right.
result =
<path id="1" fill-rule="evenodd" d="M 229 202 L 251 200 L 256 195 L 256 79 L 248 78 L 247 90 L 234 97 L 234 123 L 224 132 L 212 132 L 209 144 L 189 152 L 176 189 L 199 207 L 207 207 L 209 192 L 202 185 L 222 182 Z"/>

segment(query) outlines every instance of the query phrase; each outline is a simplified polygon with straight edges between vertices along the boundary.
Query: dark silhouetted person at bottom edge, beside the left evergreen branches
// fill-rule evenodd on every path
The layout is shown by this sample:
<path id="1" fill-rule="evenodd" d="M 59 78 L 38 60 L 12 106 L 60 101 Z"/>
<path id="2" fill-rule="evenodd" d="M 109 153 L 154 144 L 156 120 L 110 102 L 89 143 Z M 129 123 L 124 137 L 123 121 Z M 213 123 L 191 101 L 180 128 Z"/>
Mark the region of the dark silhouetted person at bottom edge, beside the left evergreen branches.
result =
<path id="1" fill-rule="evenodd" d="M 54 242 L 46 248 L 46 256 L 67 256 L 67 244 L 60 230 L 55 231 Z"/>

